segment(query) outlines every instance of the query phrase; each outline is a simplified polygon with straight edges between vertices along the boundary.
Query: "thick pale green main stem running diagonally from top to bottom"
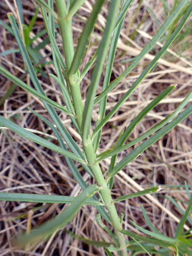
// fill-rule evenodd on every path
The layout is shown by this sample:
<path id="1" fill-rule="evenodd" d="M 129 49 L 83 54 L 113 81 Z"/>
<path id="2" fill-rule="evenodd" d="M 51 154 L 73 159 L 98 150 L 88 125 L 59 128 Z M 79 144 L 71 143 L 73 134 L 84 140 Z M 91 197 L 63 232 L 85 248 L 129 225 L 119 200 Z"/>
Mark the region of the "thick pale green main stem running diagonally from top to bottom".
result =
<path id="1" fill-rule="evenodd" d="M 61 30 L 61 37 L 63 40 L 63 50 L 65 54 L 65 62 L 67 70 L 71 67 L 71 63 L 74 56 L 74 49 L 73 49 L 73 36 L 72 36 L 72 28 L 71 28 L 71 17 L 67 16 L 67 9 L 65 5 L 65 1 L 63 0 L 55 0 L 57 12 L 59 15 L 58 23 L 59 28 Z M 73 75 L 73 77 L 69 78 L 69 88 L 71 91 L 71 96 L 73 99 L 73 105 L 75 108 L 75 113 L 77 116 L 77 123 L 79 129 L 81 128 L 82 123 L 82 113 L 83 113 L 83 105 L 82 105 L 82 98 L 80 93 L 80 82 L 78 73 Z M 90 139 L 90 136 L 86 141 L 83 141 L 83 148 L 86 154 L 86 158 L 88 163 L 90 164 L 90 168 L 92 173 L 95 177 L 98 186 L 102 186 L 100 190 L 100 194 L 104 200 L 106 208 L 108 209 L 112 226 L 114 228 L 115 234 L 117 236 L 117 240 L 120 245 L 121 249 L 121 256 L 127 256 L 127 249 L 125 244 L 124 235 L 119 232 L 118 230 L 122 228 L 120 223 L 115 205 L 112 203 L 112 197 L 110 193 L 110 189 L 107 186 L 107 183 L 103 177 L 102 171 L 98 163 L 96 163 L 96 155 L 93 148 L 93 143 Z"/>

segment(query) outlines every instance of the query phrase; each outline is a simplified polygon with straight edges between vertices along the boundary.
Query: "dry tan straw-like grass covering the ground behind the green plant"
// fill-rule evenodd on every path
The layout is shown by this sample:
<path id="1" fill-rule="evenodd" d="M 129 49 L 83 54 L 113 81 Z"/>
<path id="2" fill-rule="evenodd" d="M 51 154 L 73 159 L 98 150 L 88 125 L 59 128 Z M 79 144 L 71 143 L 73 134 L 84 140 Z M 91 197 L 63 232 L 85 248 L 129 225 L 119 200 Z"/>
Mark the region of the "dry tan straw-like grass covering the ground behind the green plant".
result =
<path id="1" fill-rule="evenodd" d="M 123 63 L 123 60 L 130 59 L 138 54 L 139 51 L 149 41 L 148 37 L 153 36 L 158 30 L 158 23 L 162 24 L 165 19 L 164 9 L 160 0 L 143 1 L 141 9 L 139 10 L 133 26 L 130 27 L 130 20 L 138 7 L 137 1 L 133 2 L 123 25 L 121 40 L 119 40 L 115 62 L 113 66 L 113 73 L 111 80 L 119 76 L 129 65 L 129 62 Z M 174 1 L 168 1 L 170 9 Z M 29 24 L 31 17 L 34 14 L 35 1 L 23 0 L 23 14 L 24 21 Z M 83 22 L 80 17 L 87 17 L 91 11 L 92 0 L 86 1 L 79 11 L 80 16 L 74 16 L 74 39 L 77 43 L 77 38 L 83 27 Z M 94 33 L 92 34 L 90 48 L 87 51 L 84 63 L 90 60 L 98 46 L 98 38 L 102 34 L 104 28 L 104 20 L 107 15 L 107 6 L 104 6 L 102 13 L 98 18 L 98 22 Z M 156 20 L 149 10 L 156 14 Z M 13 12 L 16 17 L 15 8 L 12 1 L 0 1 L 1 19 L 9 24 L 7 19 L 7 12 Z M 137 25 L 143 17 L 148 14 L 143 24 L 140 26 L 139 32 L 134 38 L 134 42 L 129 40 Z M 39 13 L 38 19 L 34 25 L 33 33 L 36 34 L 44 29 L 42 16 Z M 17 48 L 17 44 L 13 36 L 1 26 L 0 49 L 1 52 L 7 49 Z M 144 34 L 144 32 L 146 34 Z M 43 38 L 38 39 L 40 42 Z M 190 34 L 185 38 L 186 41 L 191 42 L 192 36 Z M 126 45 L 131 41 L 129 45 Z M 57 43 L 61 45 L 61 37 L 57 34 Z M 125 104 L 117 111 L 108 122 L 102 132 L 102 140 L 98 153 L 110 148 L 114 145 L 116 139 L 120 135 L 122 129 L 126 127 L 133 118 L 143 109 L 144 106 L 153 100 L 160 92 L 162 92 L 168 85 L 177 83 L 176 89 L 166 98 L 161 104 L 158 104 L 154 110 L 146 115 L 142 122 L 137 125 L 136 129 L 130 136 L 130 140 L 135 139 L 139 135 L 147 131 L 152 125 L 163 119 L 166 115 L 172 113 L 178 104 L 183 100 L 183 97 L 191 90 L 192 82 L 192 64 L 190 63 L 192 54 L 191 49 L 180 52 L 183 49 L 182 42 L 177 42 L 173 45 L 171 52 L 164 56 L 164 60 L 160 60 L 154 67 L 152 72 L 143 80 L 139 88 L 135 90 L 132 96 L 125 102 Z M 37 42 L 34 42 L 34 45 Z M 144 59 L 137 65 L 137 67 L 125 78 L 118 86 L 110 92 L 107 103 L 107 112 L 114 106 L 114 104 L 121 98 L 121 96 L 132 85 L 134 80 L 140 75 L 151 58 L 158 51 L 159 46 L 147 54 Z M 125 53 L 121 56 L 122 50 Z M 40 50 L 46 61 L 51 61 L 50 46 Z M 175 53 L 182 53 L 183 59 L 178 57 Z M 175 56 L 176 55 L 176 56 Z M 166 60 L 166 62 L 165 62 Z M 26 81 L 26 74 L 24 72 L 24 64 L 20 53 L 9 54 L 1 57 L 1 65 L 7 68 L 12 74 L 20 77 L 23 75 L 23 81 Z M 82 67 L 81 67 L 82 69 Z M 55 73 L 52 64 L 43 67 L 46 74 Z M 82 81 L 82 98 L 86 96 L 86 91 L 90 83 L 90 75 L 88 73 Z M 103 79 L 104 72 L 102 74 Z M 59 104 L 64 104 L 62 94 L 59 87 L 51 78 L 44 78 L 38 73 L 38 78 L 43 85 L 46 94 L 53 100 L 57 100 Z M 102 90 L 102 79 L 98 87 L 98 94 Z M 2 97 L 11 82 L 4 77 L 0 81 Z M 1 105 L 1 114 L 6 118 L 12 118 L 18 125 L 25 127 L 30 131 L 37 133 L 40 136 L 47 137 L 53 143 L 57 143 L 52 131 L 41 120 L 31 114 L 27 109 L 30 106 L 36 112 L 44 117 L 49 118 L 42 103 L 33 96 L 16 87 L 11 96 Z M 98 105 L 94 108 L 92 125 L 94 127 L 98 113 Z M 64 113 L 59 113 L 59 117 L 63 120 L 66 128 L 69 129 L 77 144 L 81 147 L 81 142 L 78 133 L 71 127 L 71 120 Z M 51 120 L 50 120 L 51 121 Z M 156 195 L 146 195 L 141 198 L 134 198 L 126 202 L 117 203 L 117 210 L 125 214 L 125 229 L 133 230 L 140 234 L 138 230 L 133 228 L 129 223 L 129 219 L 136 224 L 146 228 L 143 215 L 141 213 L 141 204 L 146 209 L 146 212 L 154 224 L 154 226 L 162 233 L 173 237 L 176 229 L 176 222 L 181 217 L 180 212 L 170 203 L 166 195 L 178 200 L 179 205 L 186 209 L 187 195 L 179 185 L 184 184 L 185 178 L 188 177 L 188 184 L 192 185 L 192 117 L 187 117 L 180 125 L 170 131 L 166 136 L 160 139 L 157 143 L 143 152 L 134 162 L 130 163 L 126 168 L 123 168 L 117 176 L 113 186 L 113 197 L 133 193 L 138 190 L 147 188 L 147 186 L 155 186 L 157 184 L 166 184 L 160 192 L 161 197 Z M 1 192 L 12 193 L 35 193 L 35 194 L 49 194 L 49 195 L 67 195 L 77 196 L 80 192 L 80 187 L 71 175 L 69 168 L 65 163 L 62 155 L 51 152 L 49 149 L 39 146 L 27 139 L 19 137 L 12 131 L 5 130 L 7 135 L 13 139 L 8 140 L 3 133 L 0 135 L 1 154 L 0 154 L 0 189 Z M 121 160 L 131 148 L 125 150 L 118 155 L 117 161 Z M 152 154 L 152 153 L 153 154 Z M 155 156 L 154 156 L 155 154 Z M 161 162 L 159 159 L 163 160 Z M 101 163 L 101 168 L 105 172 L 109 166 L 109 159 Z M 170 164 L 177 172 L 167 166 Z M 82 170 L 79 163 L 76 163 L 84 180 L 91 184 L 90 176 Z M 169 187 L 168 185 L 173 185 Z M 176 187 L 178 186 L 178 187 Z M 67 256 L 67 255 L 105 255 L 104 249 L 99 247 L 91 247 L 85 245 L 78 240 L 71 238 L 65 231 L 60 230 L 57 234 L 53 234 L 47 241 L 39 241 L 34 249 L 26 252 L 21 249 L 16 249 L 11 245 L 11 238 L 13 238 L 21 230 L 30 230 L 30 225 L 36 226 L 40 223 L 53 218 L 56 214 L 61 212 L 66 205 L 59 204 L 38 204 L 38 203 L 21 203 L 21 202 L 0 202 L 1 207 L 1 231 L 0 231 L 0 256 L 17 256 L 17 255 L 34 255 L 34 256 Z M 100 226 L 96 224 L 95 216 L 97 211 L 93 206 L 84 206 L 75 216 L 72 223 L 65 227 L 71 230 L 76 235 L 84 238 L 94 240 L 103 239 L 111 241 L 110 237 Z M 186 223 L 187 224 L 187 223 Z M 187 229 L 188 226 L 185 226 Z"/>

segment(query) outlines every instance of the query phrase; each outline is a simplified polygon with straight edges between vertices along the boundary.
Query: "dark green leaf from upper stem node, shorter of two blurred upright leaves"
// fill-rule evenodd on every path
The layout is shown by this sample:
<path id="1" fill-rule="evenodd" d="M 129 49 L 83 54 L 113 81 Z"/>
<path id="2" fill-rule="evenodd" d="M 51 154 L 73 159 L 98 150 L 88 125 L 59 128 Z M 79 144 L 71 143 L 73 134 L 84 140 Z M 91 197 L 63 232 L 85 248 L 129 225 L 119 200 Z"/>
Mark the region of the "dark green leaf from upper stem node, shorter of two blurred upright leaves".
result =
<path id="1" fill-rule="evenodd" d="M 70 67 L 69 71 L 67 72 L 67 75 L 69 77 L 73 76 L 80 67 L 80 64 L 82 62 L 82 59 L 83 59 L 83 56 L 85 53 L 86 46 L 89 42 L 90 35 L 92 33 L 94 24 L 97 19 L 97 15 L 98 15 L 103 3 L 104 3 L 104 0 L 96 1 L 95 5 L 93 7 L 93 10 L 92 10 L 91 14 L 89 15 L 86 24 L 84 25 L 83 31 L 78 40 L 75 54 L 73 56 L 73 61 L 71 63 L 71 67 Z M 70 11 L 69 11 L 69 13 L 70 13 Z"/>

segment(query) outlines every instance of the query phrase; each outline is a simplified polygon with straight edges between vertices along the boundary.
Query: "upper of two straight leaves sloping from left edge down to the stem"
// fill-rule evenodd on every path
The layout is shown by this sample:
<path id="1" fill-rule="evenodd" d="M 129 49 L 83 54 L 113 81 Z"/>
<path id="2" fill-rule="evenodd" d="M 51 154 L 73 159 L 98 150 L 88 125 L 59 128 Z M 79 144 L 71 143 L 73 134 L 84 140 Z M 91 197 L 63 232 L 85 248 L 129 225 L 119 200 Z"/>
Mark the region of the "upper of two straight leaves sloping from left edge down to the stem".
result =
<path id="1" fill-rule="evenodd" d="M 14 75 L 12 75 L 11 73 L 9 73 L 9 71 L 7 71 L 6 69 L 4 69 L 3 67 L 0 66 L 0 73 L 7 77 L 7 79 L 11 80 L 12 82 L 14 82 L 16 85 L 18 85 L 19 87 L 21 87 L 22 89 L 26 90 L 27 92 L 31 93 L 32 95 L 36 96 L 37 98 L 39 98 L 40 100 L 46 102 L 47 104 L 49 104 L 50 106 L 66 113 L 67 115 L 73 116 L 75 117 L 71 112 L 69 112 L 69 110 L 67 110 L 66 108 L 64 108 L 63 106 L 61 106 L 60 104 L 58 104 L 57 102 L 50 100 L 45 94 L 41 94 L 40 92 L 37 92 L 36 90 L 34 90 L 33 88 L 31 88 L 30 86 L 28 86 L 27 84 L 25 84 L 24 82 L 22 82 L 20 79 L 18 79 L 17 77 L 15 77 Z"/>

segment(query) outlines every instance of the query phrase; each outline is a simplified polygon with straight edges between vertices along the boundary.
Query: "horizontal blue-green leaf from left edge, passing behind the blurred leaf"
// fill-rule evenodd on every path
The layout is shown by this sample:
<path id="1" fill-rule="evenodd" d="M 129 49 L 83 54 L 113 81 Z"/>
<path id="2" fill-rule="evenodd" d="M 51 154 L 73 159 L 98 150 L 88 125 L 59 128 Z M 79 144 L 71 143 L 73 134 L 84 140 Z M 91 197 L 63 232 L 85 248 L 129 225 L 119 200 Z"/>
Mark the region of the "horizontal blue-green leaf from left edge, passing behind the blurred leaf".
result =
<path id="1" fill-rule="evenodd" d="M 37 195 L 0 192 L 0 201 L 71 204 L 75 198 L 76 197 L 67 197 L 61 195 Z M 90 198 L 84 203 L 84 205 L 103 205 L 103 203 Z"/>

